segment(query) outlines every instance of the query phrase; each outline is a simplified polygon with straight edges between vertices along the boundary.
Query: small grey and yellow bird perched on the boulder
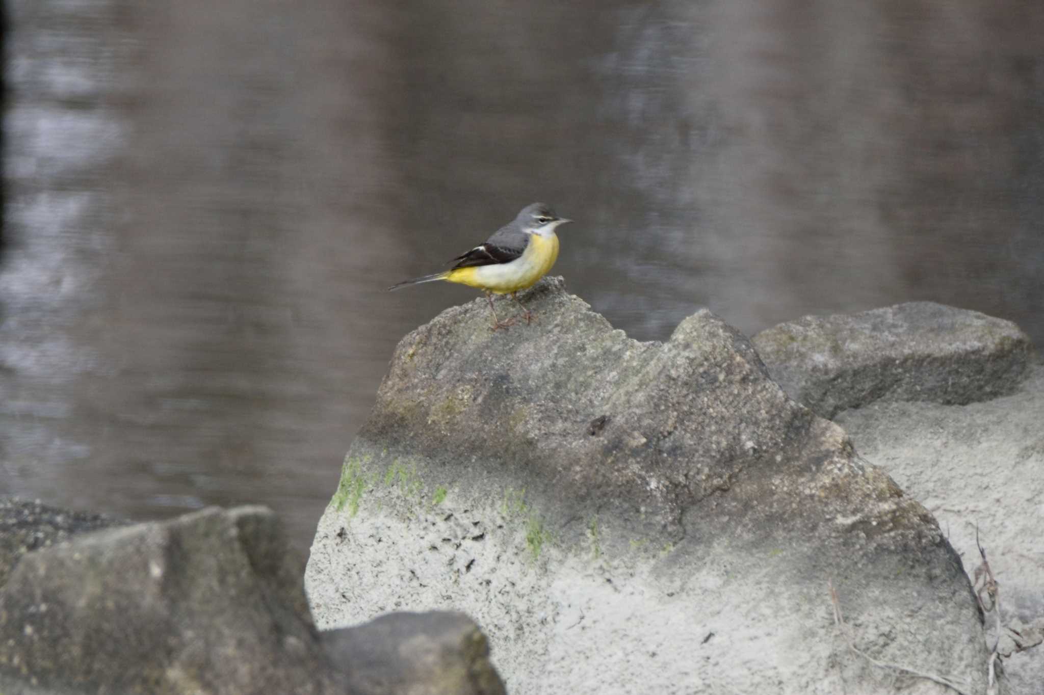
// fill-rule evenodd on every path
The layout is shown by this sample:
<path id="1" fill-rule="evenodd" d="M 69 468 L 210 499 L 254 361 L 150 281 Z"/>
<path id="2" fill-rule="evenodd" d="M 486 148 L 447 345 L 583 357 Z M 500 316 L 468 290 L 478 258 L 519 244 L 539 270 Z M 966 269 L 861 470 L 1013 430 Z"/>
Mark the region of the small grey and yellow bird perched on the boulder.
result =
<path id="1" fill-rule="evenodd" d="M 485 243 L 450 261 L 454 265 L 449 270 L 407 280 L 388 289 L 436 280 L 477 287 L 485 292 L 485 298 L 490 301 L 494 331 L 507 328 L 515 322 L 515 319 L 501 321 L 497 318 L 497 311 L 493 308 L 493 295 L 511 294 L 512 298 L 522 307 L 525 321 L 528 323 L 532 320 L 533 314 L 519 302 L 515 293 L 532 287 L 551 269 L 559 258 L 559 237 L 554 234 L 554 227 L 571 221 L 559 217 L 543 202 L 533 202 L 523 208 L 514 221 L 500 227 Z"/>

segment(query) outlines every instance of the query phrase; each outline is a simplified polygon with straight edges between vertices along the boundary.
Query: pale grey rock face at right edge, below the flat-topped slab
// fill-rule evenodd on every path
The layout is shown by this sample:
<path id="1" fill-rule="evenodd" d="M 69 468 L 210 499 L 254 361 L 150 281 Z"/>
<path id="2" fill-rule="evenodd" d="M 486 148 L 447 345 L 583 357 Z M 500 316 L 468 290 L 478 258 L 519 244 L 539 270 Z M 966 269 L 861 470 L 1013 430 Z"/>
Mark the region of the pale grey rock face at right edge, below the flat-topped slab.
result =
<path id="1" fill-rule="evenodd" d="M 1009 648 L 1041 639 L 1044 365 L 1034 365 L 1015 393 L 987 403 L 876 403 L 847 410 L 836 422 L 859 454 L 935 516 L 970 575 L 980 564 L 977 529 L 999 584 Z M 992 616 L 987 625 L 992 646 Z M 1044 645 L 1015 653 L 1004 666 L 1013 695 L 1044 692 Z"/>

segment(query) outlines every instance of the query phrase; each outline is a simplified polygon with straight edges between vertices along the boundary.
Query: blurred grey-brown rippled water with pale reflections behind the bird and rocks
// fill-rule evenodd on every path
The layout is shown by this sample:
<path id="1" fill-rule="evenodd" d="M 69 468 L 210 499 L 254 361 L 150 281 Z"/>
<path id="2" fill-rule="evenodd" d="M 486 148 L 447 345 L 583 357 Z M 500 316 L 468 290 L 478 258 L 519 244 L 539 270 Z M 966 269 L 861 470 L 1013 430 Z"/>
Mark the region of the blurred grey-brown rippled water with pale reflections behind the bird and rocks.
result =
<path id="1" fill-rule="evenodd" d="M 5 0 L 0 495 L 307 547 L 386 293 L 552 203 L 640 339 L 934 299 L 1044 344 L 1040 0 Z"/>

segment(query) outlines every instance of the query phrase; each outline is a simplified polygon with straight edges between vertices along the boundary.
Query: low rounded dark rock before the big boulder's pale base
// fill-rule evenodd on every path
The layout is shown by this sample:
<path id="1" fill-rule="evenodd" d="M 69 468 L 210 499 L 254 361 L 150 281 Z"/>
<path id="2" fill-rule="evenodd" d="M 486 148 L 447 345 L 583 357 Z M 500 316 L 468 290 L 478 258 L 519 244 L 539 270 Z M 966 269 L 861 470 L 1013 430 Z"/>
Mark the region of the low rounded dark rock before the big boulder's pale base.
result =
<path id="1" fill-rule="evenodd" d="M 323 633 L 349 692 L 367 695 L 504 695 L 478 625 L 460 613 L 393 613 Z"/>

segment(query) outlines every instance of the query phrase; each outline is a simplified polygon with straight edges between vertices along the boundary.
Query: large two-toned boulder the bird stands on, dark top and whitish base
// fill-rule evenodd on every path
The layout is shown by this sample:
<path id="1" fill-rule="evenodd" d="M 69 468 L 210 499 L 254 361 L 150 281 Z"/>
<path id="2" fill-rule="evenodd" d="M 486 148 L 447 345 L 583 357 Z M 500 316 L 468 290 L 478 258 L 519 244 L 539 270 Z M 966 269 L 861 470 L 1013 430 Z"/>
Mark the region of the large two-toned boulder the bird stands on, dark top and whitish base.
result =
<path id="1" fill-rule="evenodd" d="M 513 695 L 984 690 L 959 558 L 844 431 L 709 312 L 665 343 L 547 279 L 531 326 L 482 301 L 407 335 L 312 546 L 323 627 L 476 617 Z M 504 305 L 506 306 L 506 305 Z"/>

